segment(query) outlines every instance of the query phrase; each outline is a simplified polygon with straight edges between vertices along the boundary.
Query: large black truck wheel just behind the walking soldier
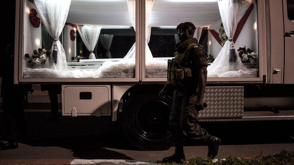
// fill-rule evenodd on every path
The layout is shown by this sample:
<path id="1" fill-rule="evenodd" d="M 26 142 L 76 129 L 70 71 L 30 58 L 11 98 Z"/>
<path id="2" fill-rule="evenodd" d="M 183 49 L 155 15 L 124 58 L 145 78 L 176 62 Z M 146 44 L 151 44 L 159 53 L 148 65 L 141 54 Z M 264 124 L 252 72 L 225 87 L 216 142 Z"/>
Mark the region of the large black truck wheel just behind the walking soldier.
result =
<path id="1" fill-rule="evenodd" d="M 123 130 L 136 147 L 167 150 L 172 146 L 169 131 L 171 99 L 154 95 L 132 96 L 123 107 Z"/>

